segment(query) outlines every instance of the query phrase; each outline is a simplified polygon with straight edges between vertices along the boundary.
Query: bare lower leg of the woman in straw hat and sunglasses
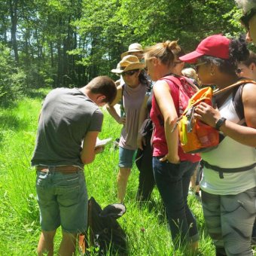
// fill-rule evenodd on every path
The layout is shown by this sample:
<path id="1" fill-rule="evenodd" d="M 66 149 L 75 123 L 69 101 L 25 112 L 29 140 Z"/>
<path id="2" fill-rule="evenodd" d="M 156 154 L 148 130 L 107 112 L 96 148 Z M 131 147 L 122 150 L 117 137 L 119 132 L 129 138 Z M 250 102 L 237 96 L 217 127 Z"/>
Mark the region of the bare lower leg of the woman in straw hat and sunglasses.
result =
<path id="1" fill-rule="evenodd" d="M 117 198 L 120 203 L 123 203 L 130 173 L 131 173 L 131 168 L 120 167 L 119 169 L 119 172 L 117 175 Z"/>

